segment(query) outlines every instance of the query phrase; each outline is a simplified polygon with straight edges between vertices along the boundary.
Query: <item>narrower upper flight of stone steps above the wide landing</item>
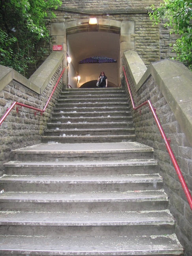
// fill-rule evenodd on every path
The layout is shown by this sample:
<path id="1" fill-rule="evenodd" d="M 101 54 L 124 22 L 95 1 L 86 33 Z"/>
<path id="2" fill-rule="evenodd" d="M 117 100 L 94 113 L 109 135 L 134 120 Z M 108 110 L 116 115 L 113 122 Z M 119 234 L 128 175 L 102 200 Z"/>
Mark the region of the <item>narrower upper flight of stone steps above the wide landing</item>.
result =
<path id="1" fill-rule="evenodd" d="M 62 92 L 42 142 L 135 141 L 130 115 L 121 89 L 69 89 Z"/>

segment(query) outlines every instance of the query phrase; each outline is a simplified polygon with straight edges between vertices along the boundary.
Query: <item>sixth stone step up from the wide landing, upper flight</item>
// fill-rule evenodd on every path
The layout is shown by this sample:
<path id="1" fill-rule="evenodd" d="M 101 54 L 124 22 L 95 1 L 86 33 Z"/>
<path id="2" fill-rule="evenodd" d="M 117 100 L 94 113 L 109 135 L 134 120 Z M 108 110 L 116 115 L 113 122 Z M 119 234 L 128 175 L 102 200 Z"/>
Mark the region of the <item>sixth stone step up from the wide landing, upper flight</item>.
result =
<path id="1" fill-rule="evenodd" d="M 123 112 L 123 111 L 130 111 L 130 107 L 119 107 L 118 105 L 116 107 L 57 107 L 53 109 L 54 113 L 65 113 L 70 112 L 73 113 L 74 111 L 78 112 Z"/>

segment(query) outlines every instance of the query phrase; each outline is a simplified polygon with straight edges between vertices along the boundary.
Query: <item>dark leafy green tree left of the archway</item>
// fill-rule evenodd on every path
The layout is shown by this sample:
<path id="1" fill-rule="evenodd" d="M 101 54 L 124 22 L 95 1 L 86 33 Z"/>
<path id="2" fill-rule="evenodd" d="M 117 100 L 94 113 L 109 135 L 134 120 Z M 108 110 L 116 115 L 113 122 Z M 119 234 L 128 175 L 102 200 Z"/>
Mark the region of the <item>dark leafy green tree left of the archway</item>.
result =
<path id="1" fill-rule="evenodd" d="M 60 0 L 0 0 L 0 65 L 27 76 L 28 66 L 38 64 L 49 39 L 47 25 Z"/>

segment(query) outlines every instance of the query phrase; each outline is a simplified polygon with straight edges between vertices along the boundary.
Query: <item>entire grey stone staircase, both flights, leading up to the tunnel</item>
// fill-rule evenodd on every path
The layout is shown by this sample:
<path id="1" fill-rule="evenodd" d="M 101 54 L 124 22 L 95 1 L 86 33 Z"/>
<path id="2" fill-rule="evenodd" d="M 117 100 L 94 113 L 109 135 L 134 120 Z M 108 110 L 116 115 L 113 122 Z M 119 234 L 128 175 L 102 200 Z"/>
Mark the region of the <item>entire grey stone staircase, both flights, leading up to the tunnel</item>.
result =
<path id="1" fill-rule="evenodd" d="M 0 255 L 183 255 L 127 102 L 119 88 L 65 90 L 42 143 L 13 151 L 0 179 Z"/>

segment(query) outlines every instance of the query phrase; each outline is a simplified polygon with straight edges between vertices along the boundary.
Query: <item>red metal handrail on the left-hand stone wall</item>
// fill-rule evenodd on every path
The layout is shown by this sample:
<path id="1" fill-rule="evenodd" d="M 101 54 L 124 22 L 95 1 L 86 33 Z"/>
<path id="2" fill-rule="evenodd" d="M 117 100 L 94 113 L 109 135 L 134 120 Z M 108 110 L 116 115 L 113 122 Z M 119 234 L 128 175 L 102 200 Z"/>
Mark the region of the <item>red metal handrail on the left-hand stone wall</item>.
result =
<path id="1" fill-rule="evenodd" d="M 61 78 L 61 76 L 62 76 L 64 70 L 65 70 L 65 68 L 62 70 L 62 72 L 61 72 L 61 74 L 60 74 L 60 77 L 58 78 L 58 80 L 57 80 L 57 82 L 56 82 L 56 85 L 55 85 L 55 87 L 53 88 L 53 91 L 51 92 L 51 95 L 50 95 L 49 99 L 47 100 L 47 103 L 45 104 L 45 107 L 43 108 L 43 110 L 42 110 L 42 109 L 38 109 L 38 108 L 36 108 L 36 107 L 31 107 L 31 106 L 29 106 L 29 105 L 25 105 L 25 104 L 22 104 L 22 103 L 19 103 L 19 102 L 14 102 L 14 103 L 11 105 L 11 107 L 9 107 L 9 109 L 7 110 L 7 112 L 4 114 L 4 116 L 2 117 L 2 119 L 0 120 L 0 125 L 1 125 L 2 122 L 6 119 L 6 117 L 9 115 L 9 113 L 11 112 L 11 110 L 13 109 L 13 107 L 14 107 L 15 105 L 19 105 L 19 106 L 21 106 L 21 107 L 26 107 L 26 108 L 29 108 L 29 109 L 33 109 L 33 110 L 35 110 L 35 111 L 40 112 L 41 115 L 42 115 L 42 113 L 43 113 L 43 112 L 45 111 L 45 109 L 47 108 L 47 105 L 49 104 L 49 101 L 51 100 L 51 97 L 52 97 L 52 95 L 53 95 L 53 92 L 55 91 L 55 88 L 56 88 L 56 86 L 58 85 L 58 82 L 60 81 L 60 78 Z M 16 110 L 17 110 L 17 112 L 18 112 L 18 108 L 16 108 Z M 36 115 L 36 112 L 35 112 L 35 115 Z"/>

